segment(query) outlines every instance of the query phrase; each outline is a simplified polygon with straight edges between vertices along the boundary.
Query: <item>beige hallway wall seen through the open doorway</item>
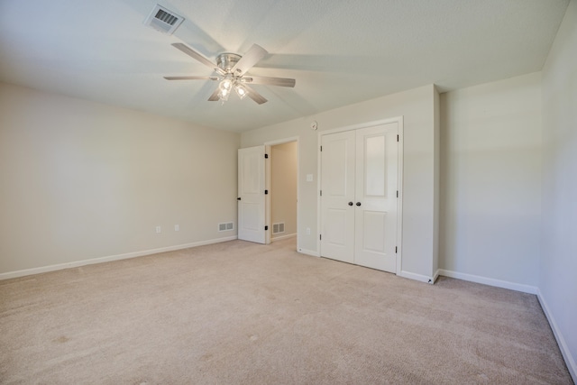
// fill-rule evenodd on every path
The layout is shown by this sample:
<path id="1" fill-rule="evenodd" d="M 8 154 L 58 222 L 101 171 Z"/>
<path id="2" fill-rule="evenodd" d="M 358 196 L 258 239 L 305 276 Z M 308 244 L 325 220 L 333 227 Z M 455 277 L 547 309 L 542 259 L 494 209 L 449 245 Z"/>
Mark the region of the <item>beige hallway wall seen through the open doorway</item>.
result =
<path id="1" fill-rule="evenodd" d="M 283 234 L 297 234 L 297 142 L 270 147 L 270 225 L 285 224 Z"/>

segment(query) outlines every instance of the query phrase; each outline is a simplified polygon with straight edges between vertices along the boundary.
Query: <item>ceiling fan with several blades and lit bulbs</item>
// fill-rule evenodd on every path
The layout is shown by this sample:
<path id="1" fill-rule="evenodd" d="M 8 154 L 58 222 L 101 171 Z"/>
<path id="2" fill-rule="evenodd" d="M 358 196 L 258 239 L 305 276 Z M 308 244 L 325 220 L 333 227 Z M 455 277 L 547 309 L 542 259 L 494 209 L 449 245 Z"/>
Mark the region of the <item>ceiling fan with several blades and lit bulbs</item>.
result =
<path id="1" fill-rule="evenodd" d="M 186 53 L 191 58 L 200 61 L 207 67 L 214 69 L 218 76 L 215 77 L 164 77 L 167 80 L 215 80 L 218 81 L 218 87 L 215 89 L 213 95 L 208 100 L 211 102 L 221 101 L 224 103 L 228 100 L 231 92 L 236 91 L 236 94 L 243 99 L 244 96 L 249 96 L 259 105 L 266 103 L 261 94 L 256 92 L 250 84 L 264 84 L 268 86 L 280 87 L 295 87 L 296 80 L 294 78 L 270 78 L 270 77 L 255 77 L 247 75 L 246 72 L 261 60 L 268 52 L 258 44 L 252 44 L 244 56 L 236 53 L 224 52 L 216 57 L 216 64 L 206 59 L 196 50 L 189 48 L 187 45 L 180 42 L 172 44 L 174 47 Z"/>

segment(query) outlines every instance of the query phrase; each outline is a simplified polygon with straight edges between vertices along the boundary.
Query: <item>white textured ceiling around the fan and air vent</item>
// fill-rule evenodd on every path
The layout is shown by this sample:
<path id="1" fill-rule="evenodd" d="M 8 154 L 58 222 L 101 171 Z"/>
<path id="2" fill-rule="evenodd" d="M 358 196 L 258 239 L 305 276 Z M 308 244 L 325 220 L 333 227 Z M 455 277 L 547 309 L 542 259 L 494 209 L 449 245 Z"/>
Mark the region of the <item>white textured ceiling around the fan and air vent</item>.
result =
<path id="1" fill-rule="evenodd" d="M 186 18 L 143 24 L 156 4 Z M 436 84 L 467 87 L 542 69 L 569 0 L 0 0 L 0 80 L 242 132 Z M 252 43 L 268 103 L 165 75 L 211 75 L 170 44 L 215 60 Z"/>

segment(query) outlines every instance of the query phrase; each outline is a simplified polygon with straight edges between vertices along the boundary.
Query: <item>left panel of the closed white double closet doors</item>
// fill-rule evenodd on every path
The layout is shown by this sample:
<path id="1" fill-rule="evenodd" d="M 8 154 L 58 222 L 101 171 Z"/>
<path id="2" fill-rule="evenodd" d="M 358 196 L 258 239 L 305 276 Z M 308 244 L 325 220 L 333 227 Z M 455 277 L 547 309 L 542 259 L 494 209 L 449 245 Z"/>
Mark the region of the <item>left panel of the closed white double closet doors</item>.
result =
<path id="1" fill-rule="evenodd" d="M 353 131 L 322 136 L 321 255 L 353 263 L 354 251 Z"/>

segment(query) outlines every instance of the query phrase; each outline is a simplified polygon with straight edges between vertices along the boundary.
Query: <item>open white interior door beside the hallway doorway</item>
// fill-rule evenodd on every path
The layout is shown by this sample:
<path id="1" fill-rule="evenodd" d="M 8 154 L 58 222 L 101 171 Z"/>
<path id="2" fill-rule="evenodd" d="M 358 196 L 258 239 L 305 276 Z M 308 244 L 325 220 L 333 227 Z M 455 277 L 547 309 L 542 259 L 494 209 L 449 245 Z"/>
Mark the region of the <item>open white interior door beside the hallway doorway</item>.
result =
<path id="1" fill-rule="evenodd" d="M 238 151 L 238 239 L 266 243 L 264 146 Z"/>

